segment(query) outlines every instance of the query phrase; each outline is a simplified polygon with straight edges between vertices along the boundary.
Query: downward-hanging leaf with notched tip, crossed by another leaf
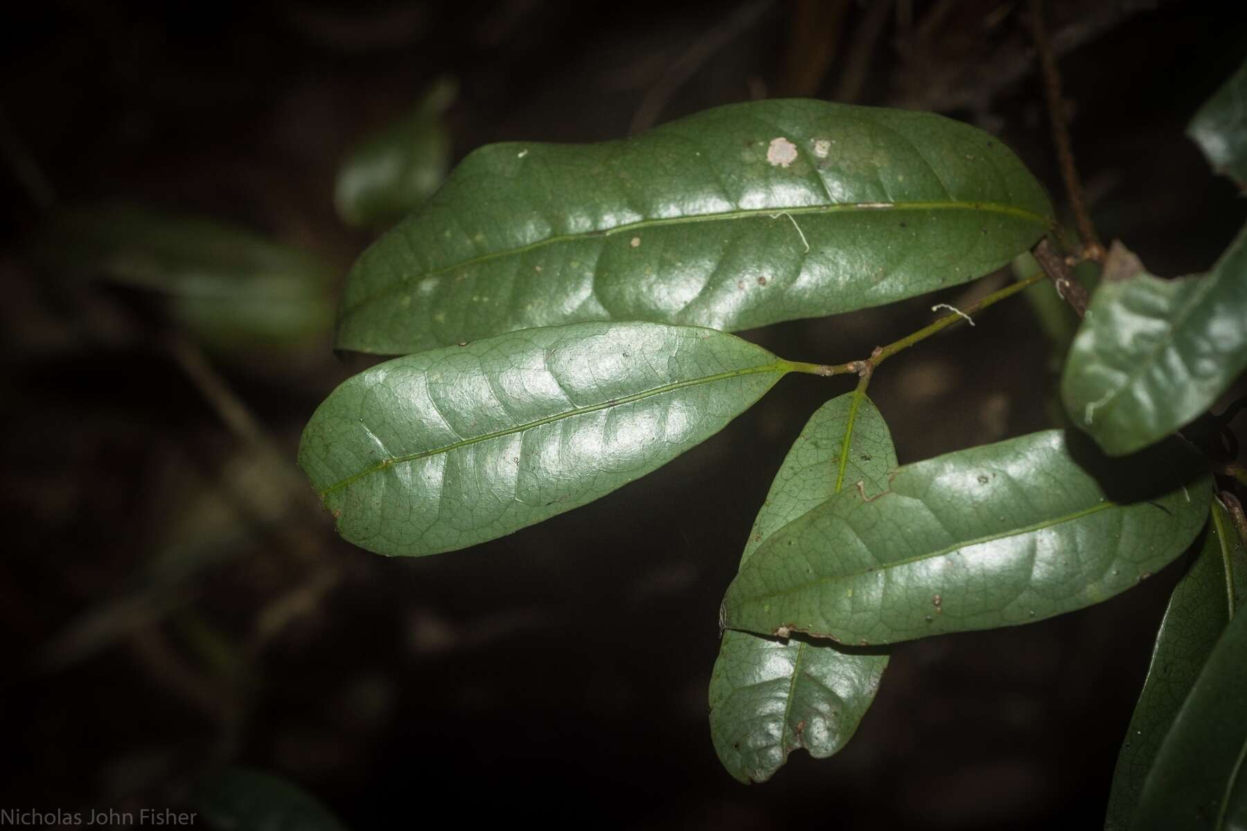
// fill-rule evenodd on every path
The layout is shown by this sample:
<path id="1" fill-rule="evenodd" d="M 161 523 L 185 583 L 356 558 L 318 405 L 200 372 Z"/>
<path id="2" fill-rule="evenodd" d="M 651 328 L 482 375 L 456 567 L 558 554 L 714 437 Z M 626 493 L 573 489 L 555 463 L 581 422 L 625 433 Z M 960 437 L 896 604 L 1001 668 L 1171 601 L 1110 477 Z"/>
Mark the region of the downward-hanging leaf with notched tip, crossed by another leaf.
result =
<path id="1" fill-rule="evenodd" d="M 742 563 L 774 531 L 849 482 L 887 487 L 897 465 L 888 425 L 864 394 L 832 399 L 811 417 L 779 467 Z M 788 754 L 823 759 L 853 736 L 879 689 L 888 653 L 799 637 L 779 640 L 727 630 L 710 680 L 711 738 L 742 782 L 763 782 Z"/>

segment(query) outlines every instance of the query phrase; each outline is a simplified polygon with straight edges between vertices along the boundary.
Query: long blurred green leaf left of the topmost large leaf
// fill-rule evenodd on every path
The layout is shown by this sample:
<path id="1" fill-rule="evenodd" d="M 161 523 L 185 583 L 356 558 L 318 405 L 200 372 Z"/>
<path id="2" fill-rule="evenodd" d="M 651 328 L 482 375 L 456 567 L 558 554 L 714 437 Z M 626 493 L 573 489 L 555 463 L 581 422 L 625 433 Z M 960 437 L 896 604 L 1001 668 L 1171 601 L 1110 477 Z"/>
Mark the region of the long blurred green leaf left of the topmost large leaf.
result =
<path id="1" fill-rule="evenodd" d="M 211 219 L 126 203 L 70 208 L 34 252 L 50 268 L 166 295 L 172 316 L 218 349 L 301 344 L 333 321 L 325 263 Z"/>

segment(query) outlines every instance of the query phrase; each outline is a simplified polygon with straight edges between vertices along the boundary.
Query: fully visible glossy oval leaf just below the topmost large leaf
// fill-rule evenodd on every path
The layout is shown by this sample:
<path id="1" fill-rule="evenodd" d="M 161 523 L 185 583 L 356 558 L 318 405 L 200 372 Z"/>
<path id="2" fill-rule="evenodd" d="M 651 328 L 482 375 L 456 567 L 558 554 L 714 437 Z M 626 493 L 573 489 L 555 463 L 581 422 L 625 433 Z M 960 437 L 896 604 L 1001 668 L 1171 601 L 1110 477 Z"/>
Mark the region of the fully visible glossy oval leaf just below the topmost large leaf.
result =
<path id="1" fill-rule="evenodd" d="M 526 329 L 349 379 L 308 422 L 299 465 L 357 546 L 466 548 L 610 493 L 817 369 L 711 329 Z"/>

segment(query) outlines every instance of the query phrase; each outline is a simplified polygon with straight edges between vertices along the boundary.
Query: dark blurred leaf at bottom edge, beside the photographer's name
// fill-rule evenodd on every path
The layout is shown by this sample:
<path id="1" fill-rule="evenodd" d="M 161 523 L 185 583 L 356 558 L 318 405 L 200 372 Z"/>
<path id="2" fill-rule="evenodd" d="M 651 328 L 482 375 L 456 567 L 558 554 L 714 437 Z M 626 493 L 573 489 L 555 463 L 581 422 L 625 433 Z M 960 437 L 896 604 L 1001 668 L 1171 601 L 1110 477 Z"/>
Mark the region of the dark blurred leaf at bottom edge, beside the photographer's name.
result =
<path id="1" fill-rule="evenodd" d="M 192 795 L 198 820 L 217 831 L 345 831 L 338 817 L 293 782 L 229 767 L 200 782 Z"/>

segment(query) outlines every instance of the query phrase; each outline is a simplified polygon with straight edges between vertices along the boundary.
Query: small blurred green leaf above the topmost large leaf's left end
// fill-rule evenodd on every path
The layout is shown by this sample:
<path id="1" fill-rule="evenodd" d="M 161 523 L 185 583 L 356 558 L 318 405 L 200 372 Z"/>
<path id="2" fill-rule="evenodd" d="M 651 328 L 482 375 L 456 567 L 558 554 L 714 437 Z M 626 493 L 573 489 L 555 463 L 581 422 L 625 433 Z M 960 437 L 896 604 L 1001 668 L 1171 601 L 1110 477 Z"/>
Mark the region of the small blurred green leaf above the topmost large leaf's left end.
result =
<path id="1" fill-rule="evenodd" d="M 441 116 L 458 83 L 439 78 L 414 111 L 364 138 L 338 171 L 334 206 L 348 226 L 387 226 L 438 189 L 450 168 Z"/>

